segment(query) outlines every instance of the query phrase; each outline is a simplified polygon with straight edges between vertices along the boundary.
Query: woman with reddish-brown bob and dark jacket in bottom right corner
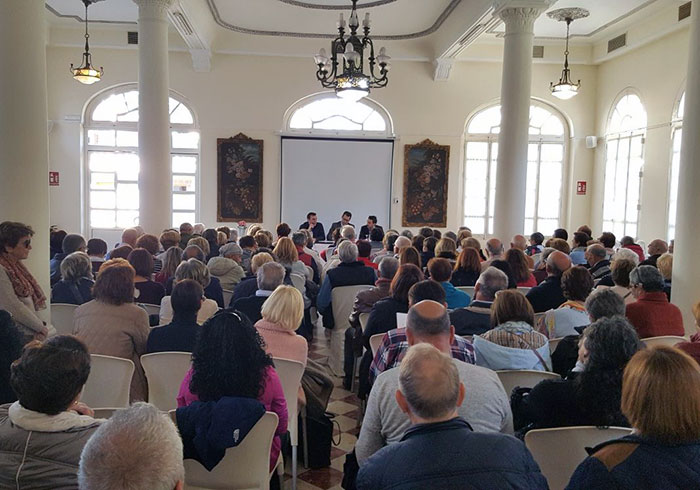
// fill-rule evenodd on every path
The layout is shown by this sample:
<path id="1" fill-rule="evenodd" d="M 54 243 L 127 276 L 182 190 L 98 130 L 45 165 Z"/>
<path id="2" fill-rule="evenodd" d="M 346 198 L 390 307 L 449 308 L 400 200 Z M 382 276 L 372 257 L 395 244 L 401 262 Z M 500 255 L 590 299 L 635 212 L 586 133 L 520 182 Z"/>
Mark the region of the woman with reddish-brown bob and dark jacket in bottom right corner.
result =
<path id="1" fill-rule="evenodd" d="M 637 352 L 622 378 L 622 413 L 634 433 L 593 448 L 568 489 L 700 487 L 696 363 L 670 347 Z"/>

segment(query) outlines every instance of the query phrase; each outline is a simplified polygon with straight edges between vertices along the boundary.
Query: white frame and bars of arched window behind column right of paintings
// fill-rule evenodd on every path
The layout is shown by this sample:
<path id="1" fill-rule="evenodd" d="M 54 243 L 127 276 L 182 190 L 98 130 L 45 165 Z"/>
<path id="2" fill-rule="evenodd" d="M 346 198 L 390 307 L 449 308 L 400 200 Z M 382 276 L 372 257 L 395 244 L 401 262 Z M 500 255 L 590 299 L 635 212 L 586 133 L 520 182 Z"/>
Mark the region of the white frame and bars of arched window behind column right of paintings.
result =
<path id="1" fill-rule="evenodd" d="M 487 143 L 487 163 L 488 163 L 488 171 L 487 171 L 487 177 L 486 177 L 486 206 L 485 206 L 485 214 L 483 215 L 484 218 L 484 233 L 483 237 L 490 236 L 492 233 L 489 232 L 489 228 L 493 226 L 492 224 L 492 219 L 493 216 L 491 216 L 490 213 L 490 206 L 489 206 L 489 200 L 491 197 L 491 180 L 493 179 L 493 176 L 491 175 L 491 156 L 493 154 L 493 143 L 498 144 L 498 137 L 500 134 L 499 132 L 496 133 L 470 133 L 469 132 L 469 126 L 471 125 L 472 121 L 479 116 L 482 112 L 491 109 L 493 107 L 500 106 L 501 102 L 500 99 L 492 101 L 488 104 L 480 106 L 477 110 L 475 110 L 470 116 L 467 118 L 467 122 L 464 126 L 464 158 L 462 161 L 462 175 L 460 179 L 460 185 L 461 187 L 461 206 L 462 206 L 462 213 L 461 213 L 461 220 L 462 224 L 465 223 L 465 219 L 467 218 L 466 215 L 466 206 L 465 206 L 465 192 L 466 192 L 466 180 L 467 180 L 467 165 L 468 165 L 468 154 L 467 154 L 467 145 L 472 142 L 485 142 Z M 559 216 L 557 218 L 559 225 L 562 226 L 562 222 L 565 219 L 565 216 L 567 215 L 567 209 L 568 209 L 568 179 L 569 179 L 569 166 L 570 166 L 570 158 L 569 158 L 569 151 L 570 151 L 570 145 L 569 145 L 569 140 L 571 139 L 573 135 L 573 130 L 571 128 L 571 123 L 569 121 L 569 118 L 556 106 L 552 105 L 551 103 L 540 100 L 535 97 L 530 98 L 530 107 L 539 107 L 550 114 L 554 115 L 559 119 L 559 121 L 562 124 L 562 127 L 564 129 L 564 133 L 561 136 L 554 136 L 554 135 L 541 135 L 541 134 L 530 134 L 529 128 L 531 127 L 528 124 L 528 152 L 529 152 L 529 146 L 531 144 L 537 144 L 538 145 L 538 160 L 537 160 L 537 174 L 539 175 L 540 172 L 540 166 L 542 164 L 541 161 L 541 154 L 542 154 L 542 145 L 543 144 L 561 144 L 562 145 L 562 172 L 561 172 L 561 192 L 560 192 L 560 198 L 559 198 Z M 495 126 L 494 126 L 495 127 Z M 498 126 L 500 128 L 500 124 Z M 500 149 L 499 149 L 500 151 Z M 526 164 L 529 162 L 526 162 Z M 498 171 L 498 170 L 496 170 Z M 526 178 L 527 179 L 527 178 Z M 524 183 L 524 185 L 527 185 L 527 180 Z M 538 207 L 539 207 L 539 178 L 536 179 L 536 187 L 535 187 L 535 202 L 534 202 L 534 216 L 533 218 L 533 229 L 534 231 L 537 231 L 537 223 L 538 220 L 540 219 L 538 217 Z M 494 197 L 495 199 L 495 197 Z M 495 208 L 495 201 L 494 201 L 494 208 Z M 482 216 L 475 216 L 475 215 L 470 215 L 470 218 L 480 218 Z M 530 219 L 530 218 L 525 218 L 525 219 Z M 541 219 L 550 219 L 550 218 L 541 218 Z M 523 222 L 523 227 L 525 226 L 525 222 Z"/>

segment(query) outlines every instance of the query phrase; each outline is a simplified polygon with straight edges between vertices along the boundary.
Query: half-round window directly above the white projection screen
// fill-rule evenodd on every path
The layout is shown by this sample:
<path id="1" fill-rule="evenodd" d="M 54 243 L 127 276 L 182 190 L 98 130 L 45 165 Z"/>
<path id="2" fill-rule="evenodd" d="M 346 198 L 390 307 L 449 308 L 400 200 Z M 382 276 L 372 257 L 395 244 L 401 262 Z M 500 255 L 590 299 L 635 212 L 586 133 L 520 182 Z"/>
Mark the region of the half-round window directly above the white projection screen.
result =
<path id="1" fill-rule="evenodd" d="M 353 102 L 322 92 L 299 100 L 285 115 L 286 129 L 302 133 L 356 132 L 390 136 L 391 117 L 371 99 Z"/>

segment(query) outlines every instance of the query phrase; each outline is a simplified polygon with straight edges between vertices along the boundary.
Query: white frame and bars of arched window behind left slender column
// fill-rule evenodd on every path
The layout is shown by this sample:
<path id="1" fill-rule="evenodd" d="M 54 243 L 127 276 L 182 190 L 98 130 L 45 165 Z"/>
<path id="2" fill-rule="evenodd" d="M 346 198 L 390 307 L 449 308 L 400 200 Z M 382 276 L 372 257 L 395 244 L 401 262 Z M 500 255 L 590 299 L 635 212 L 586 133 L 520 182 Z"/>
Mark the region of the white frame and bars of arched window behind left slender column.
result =
<path id="1" fill-rule="evenodd" d="M 91 130 L 112 130 L 112 131 L 136 131 L 138 132 L 138 122 L 133 122 L 133 121 L 96 121 L 92 118 L 93 113 L 95 109 L 106 99 L 111 97 L 112 95 L 115 94 L 120 94 L 120 93 L 127 93 L 131 91 L 136 91 L 138 92 L 138 83 L 124 83 L 124 84 L 119 84 L 115 85 L 112 87 L 109 87 L 105 90 L 102 90 L 95 95 L 92 96 L 92 98 L 85 104 L 84 110 L 83 110 L 83 117 L 81 120 L 81 157 L 82 157 L 82 179 L 81 179 L 81 216 L 82 216 L 82 226 L 81 228 L 83 229 L 83 232 L 85 236 L 93 236 L 93 233 L 95 230 L 101 230 L 101 231 L 106 231 L 106 232 L 114 232 L 114 231 L 119 231 L 122 230 L 122 227 L 115 226 L 114 228 L 101 228 L 101 227 L 93 227 L 90 223 L 90 212 L 92 210 L 91 205 L 90 205 L 90 176 L 91 176 L 91 171 L 90 171 L 90 161 L 89 161 L 89 154 L 90 152 L 93 151 L 103 151 L 103 152 L 111 152 L 111 153 L 116 153 L 116 152 L 126 152 L 126 153 L 133 153 L 138 157 L 138 147 L 134 146 L 128 146 L 128 147 L 117 147 L 115 146 L 100 146 L 100 145 L 89 145 L 88 144 L 88 131 Z M 170 145 L 170 177 L 169 177 L 169 187 L 170 187 L 170 219 L 173 219 L 173 215 L 176 212 L 192 212 L 192 210 L 177 210 L 173 206 L 173 196 L 176 194 L 186 194 L 186 195 L 192 195 L 194 194 L 194 199 L 195 199 L 195 209 L 194 209 L 194 215 L 195 215 L 195 221 L 199 220 L 200 217 L 200 212 L 201 212 L 201 149 L 202 149 L 202 143 L 201 143 L 201 128 L 199 126 L 199 120 L 197 117 L 197 113 L 192 107 L 192 104 L 189 102 L 189 100 L 184 97 L 182 94 L 174 91 L 174 90 L 169 90 L 168 91 L 168 97 L 169 99 L 174 99 L 180 104 L 184 105 L 185 108 L 190 112 L 192 115 L 192 123 L 191 124 L 186 124 L 186 123 L 171 123 L 168 122 L 168 137 L 169 137 L 169 145 Z M 139 108 L 140 109 L 140 108 Z M 138 109 L 137 109 L 138 110 Z M 173 111 L 169 110 L 169 114 L 172 114 Z M 196 131 L 199 134 L 199 142 L 197 145 L 197 148 L 176 148 L 173 147 L 173 140 L 172 140 L 172 134 L 173 132 L 192 132 Z M 174 156 L 194 156 L 196 157 L 196 171 L 194 174 L 189 174 L 189 173 L 177 173 L 174 174 L 172 167 L 173 167 L 173 157 Z M 139 167 L 140 167 L 140 162 L 139 162 Z M 195 178 L 195 189 L 194 192 L 183 192 L 183 191 L 174 191 L 173 190 L 173 175 L 193 175 Z M 115 178 L 115 184 L 117 180 Z M 131 181 L 130 181 L 131 182 Z M 139 181 L 136 181 L 137 184 L 139 184 Z M 140 194 L 140 189 L 139 189 L 139 194 Z M 118 208 L 115 207 L 115 210 Z M 116 225 L 116 223 L 115 223 Z"/>

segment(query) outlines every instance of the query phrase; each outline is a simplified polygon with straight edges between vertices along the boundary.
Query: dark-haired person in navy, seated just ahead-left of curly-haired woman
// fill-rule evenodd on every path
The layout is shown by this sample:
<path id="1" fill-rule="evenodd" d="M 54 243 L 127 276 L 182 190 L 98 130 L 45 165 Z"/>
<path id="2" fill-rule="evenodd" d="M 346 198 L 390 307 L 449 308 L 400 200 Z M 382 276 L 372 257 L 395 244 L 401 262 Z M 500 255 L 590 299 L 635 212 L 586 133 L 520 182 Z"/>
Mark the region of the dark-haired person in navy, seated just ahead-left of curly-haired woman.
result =
<path id="1" fill-rule="evenodd" d="M 170 295 L 173 319 L 167 325 L 151 329 L 146 352 L 192 352 L 199 333 L 197 313 L 204 300 L 204 289 L 197 281 L 183 279 L 177 282 Z"/>

